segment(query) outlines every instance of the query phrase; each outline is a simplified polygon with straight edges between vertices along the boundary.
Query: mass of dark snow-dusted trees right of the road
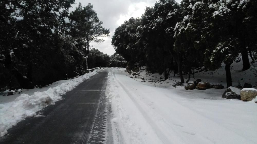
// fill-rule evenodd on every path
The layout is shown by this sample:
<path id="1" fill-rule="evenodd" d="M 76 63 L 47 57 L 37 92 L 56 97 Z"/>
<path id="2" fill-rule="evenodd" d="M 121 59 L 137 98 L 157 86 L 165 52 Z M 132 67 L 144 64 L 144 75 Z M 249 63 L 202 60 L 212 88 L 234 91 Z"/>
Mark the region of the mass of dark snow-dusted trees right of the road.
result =
<path id="1" fill-rule="evenodd" d="M 245 71 L 257 59 L 257 1 L 159 0 L 117 27 L 112 45 L 127 70 L 146 65 L 165 79 L 173 71 L 181 83 L 196 68 L 216 70 L 224 63 L 230 87 L 231 64 L 242 61 Z"/>

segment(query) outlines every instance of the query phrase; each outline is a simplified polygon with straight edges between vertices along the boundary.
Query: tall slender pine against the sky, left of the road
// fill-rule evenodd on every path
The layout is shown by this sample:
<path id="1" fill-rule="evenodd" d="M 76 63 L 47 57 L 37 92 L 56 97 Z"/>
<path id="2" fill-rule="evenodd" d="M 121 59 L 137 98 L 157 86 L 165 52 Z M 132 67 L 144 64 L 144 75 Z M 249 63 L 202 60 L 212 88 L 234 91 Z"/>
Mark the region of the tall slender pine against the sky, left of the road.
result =
<path id="1" fill-rule="evenodd" d="M 109 29 L 102 26 L 103 22 L 99 20 L 93 5 L 89 3 L 82 7 L 81 3 L 75 11 L 69 15 L 70 33 L 80 43 L 80 52 L 84 55 L 86 69 L 88 69 L 87 58 L 89 56 L 89 43 L 103 42 L 101 37 L 109 36 Z"/>

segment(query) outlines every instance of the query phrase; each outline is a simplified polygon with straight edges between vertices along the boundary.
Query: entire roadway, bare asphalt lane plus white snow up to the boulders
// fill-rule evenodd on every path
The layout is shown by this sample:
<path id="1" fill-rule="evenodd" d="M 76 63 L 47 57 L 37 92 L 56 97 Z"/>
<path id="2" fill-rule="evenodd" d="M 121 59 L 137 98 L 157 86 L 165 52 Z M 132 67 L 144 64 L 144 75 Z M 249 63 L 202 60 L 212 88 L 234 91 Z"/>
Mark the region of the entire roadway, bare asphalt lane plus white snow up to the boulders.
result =
<path id="1" fill-rule="evenodd" d="M 224 90 L 158 88 L 101 70 L 0 138 L 2 144 L 256 144 L 254 101 Z M 210 99 L 212 98 L 212 99 Z"/>

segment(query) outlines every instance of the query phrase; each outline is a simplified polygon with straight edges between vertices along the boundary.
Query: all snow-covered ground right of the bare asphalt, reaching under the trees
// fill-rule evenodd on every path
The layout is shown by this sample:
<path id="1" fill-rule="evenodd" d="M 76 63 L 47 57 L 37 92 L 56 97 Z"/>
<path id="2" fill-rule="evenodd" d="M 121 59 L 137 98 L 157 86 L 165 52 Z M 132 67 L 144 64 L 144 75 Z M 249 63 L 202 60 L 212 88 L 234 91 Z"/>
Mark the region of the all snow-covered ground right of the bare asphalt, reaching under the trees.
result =
<path id="1" fill-rule="evenodd" d="M 252 69 L 241 72 L 237 63 L 232 66 L 234 85 L 240 80 L 241 84 L 244 81 L 256 88 L 257 79 L 251 74 Z M 132 75 L 124 71 L 111 70 L 106 89 L 112 105 L 115 144 L 257 143 L 257 104 L 254 100 L 223 99 L 225 89 L 172 87 L 179 81 L 177 76 L 159 81 L 161 75 L 148 74 L 145 70 L 140 71 L 139 78 L 130 78 L 128 76 Z M 196 73 L 195 79 L 226 87 L 224 73 L 223 68 L 201 72 L 199 76 Z"/>

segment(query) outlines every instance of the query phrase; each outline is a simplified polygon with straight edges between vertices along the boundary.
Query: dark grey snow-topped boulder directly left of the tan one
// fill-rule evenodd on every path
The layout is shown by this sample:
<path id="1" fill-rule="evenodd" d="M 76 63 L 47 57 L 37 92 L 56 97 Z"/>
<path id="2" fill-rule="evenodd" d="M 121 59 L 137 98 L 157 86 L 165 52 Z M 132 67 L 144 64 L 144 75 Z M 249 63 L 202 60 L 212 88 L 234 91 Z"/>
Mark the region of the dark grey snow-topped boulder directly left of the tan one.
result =
<path id="1" fill-rule="evenodd" d="M 222 98 L 226 99 L 241 99 L 240 96 L 240 89 L 235 88 L 235 87 L 228 87 L 225 92 L 222 94 Z"/>

